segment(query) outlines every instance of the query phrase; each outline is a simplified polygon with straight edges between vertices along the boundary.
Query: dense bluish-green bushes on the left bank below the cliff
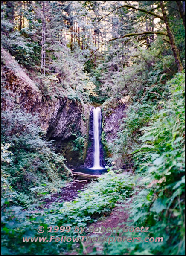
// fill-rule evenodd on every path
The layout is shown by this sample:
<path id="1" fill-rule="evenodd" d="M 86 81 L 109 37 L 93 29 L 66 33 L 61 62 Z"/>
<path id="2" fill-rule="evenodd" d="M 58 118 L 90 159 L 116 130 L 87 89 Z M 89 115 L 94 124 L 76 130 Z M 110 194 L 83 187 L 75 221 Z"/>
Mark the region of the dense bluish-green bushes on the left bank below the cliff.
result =
<path id="1" fill-rule="evenodd" d="M 2 128 L 3 208 L 40 207 L 41 200 L 65 185 L 70 175 L 65 159 L 45 139 L 37 115 L 3 111 Z"/>

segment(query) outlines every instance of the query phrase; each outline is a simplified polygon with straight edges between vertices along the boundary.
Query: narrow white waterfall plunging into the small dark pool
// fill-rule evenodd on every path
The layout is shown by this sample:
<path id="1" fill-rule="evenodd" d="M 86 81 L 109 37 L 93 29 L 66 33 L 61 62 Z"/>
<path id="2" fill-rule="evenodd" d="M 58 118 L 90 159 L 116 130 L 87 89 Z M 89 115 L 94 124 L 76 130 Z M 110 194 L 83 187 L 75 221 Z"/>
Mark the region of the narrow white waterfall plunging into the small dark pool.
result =
<path id="1" fill-rule="evenodd" d="M 93 170 L 104 169 L 100 166 L 100 134 L 101 134 L 101 108 L 97 107 L 93 109 L 93 135 L 94 135 L 94 162 Z"/>

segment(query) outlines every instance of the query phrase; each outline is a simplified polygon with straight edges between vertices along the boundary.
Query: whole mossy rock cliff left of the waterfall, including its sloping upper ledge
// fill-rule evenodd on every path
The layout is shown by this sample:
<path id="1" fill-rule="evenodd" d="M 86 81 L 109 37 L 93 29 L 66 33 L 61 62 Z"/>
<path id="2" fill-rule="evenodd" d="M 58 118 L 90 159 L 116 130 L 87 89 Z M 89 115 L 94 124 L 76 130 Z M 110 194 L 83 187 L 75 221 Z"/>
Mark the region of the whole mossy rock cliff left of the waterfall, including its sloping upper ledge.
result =
<path id="1" fill-rule="evenodd" d="M 46 97 L 26 70 L 2 49 L 2 108 L 23 109 L 37 114 L 41 128 L 54 140 L 56 151 L 67 159 L 67 165 L 76 167 L 84 163 L 88 141 L 90 105 L 81 100 L 68 99 L 67 93 Z"/>

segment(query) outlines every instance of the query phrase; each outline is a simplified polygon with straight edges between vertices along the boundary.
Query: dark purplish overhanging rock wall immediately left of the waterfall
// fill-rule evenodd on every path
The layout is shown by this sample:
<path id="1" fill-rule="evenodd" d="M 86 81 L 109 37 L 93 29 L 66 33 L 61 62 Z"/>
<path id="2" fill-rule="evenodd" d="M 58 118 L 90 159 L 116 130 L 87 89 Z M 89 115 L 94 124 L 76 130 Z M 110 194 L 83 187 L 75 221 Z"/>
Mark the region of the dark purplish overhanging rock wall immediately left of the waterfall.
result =
<path id="1" fill-rule="evenodd" d="M 64 155 L 70 167 L 84 164 L 89 109 L 89 105 L 78 100 L 60 99 L 49 122 L 47 137 L 55 140 L 57 151 Z"/>

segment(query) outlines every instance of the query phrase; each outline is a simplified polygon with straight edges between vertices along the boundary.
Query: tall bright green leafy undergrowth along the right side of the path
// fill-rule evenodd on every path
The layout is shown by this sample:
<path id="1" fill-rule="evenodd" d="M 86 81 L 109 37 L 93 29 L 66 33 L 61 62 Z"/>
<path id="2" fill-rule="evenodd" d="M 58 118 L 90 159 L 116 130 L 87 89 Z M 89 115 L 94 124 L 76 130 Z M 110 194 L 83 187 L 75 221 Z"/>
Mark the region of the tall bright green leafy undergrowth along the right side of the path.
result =
<path id="1" fill-rule="evenodd" d="M 184 254 L 184 74 L 177 73 L 167 84 L 171 95 L 138 127 L 139 145 L 133 152 L 137 182 L 128 200 L 128 226 L 149 227 L 149 233 L 124 233 L 163 237 L 163 242 L 105 244 L 105 254 Z"/>

